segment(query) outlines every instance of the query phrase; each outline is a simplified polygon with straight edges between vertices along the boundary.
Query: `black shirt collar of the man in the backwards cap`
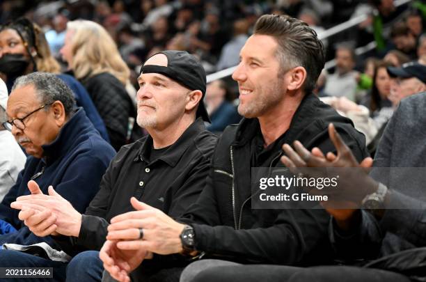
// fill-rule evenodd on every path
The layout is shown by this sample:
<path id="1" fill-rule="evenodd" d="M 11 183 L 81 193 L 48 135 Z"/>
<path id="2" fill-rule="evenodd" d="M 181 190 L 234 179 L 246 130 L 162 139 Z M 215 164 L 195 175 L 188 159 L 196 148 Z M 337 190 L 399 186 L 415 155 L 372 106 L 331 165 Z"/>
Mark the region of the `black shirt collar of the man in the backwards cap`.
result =
<path id="1" fill-rule="evenodd" d="M 184 154 L 184 152 L 189 148 L 189 146 L 193 143 L 194 137 L 197 136 L 200 132 L 205 130 L 204 121 L 201 118 L 197 118 L 194 123 L 189 125 L 187 130 L 179 137 L 179 139 L 173 143 L 168 149 L 164 152 L 161 157 L 162 161 L 166 162 L 169 166 L 174 167 Z M 141 149 L 138 152 L 139 159 L 145 162 L 155 161 L 154 159 L 150 160 L 149 155 L 152 150 L 152 137 L 150 135 L 147 136 L 145 141 L 143 141 Z"/>

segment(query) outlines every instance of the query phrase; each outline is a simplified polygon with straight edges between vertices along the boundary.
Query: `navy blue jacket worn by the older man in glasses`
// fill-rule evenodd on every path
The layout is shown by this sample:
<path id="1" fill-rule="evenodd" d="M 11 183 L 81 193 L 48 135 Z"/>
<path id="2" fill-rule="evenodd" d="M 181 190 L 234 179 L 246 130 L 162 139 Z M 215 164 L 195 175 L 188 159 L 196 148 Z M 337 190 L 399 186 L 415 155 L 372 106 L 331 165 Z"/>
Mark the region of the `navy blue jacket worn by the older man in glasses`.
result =
<path id="1" fill-rule="evenodd" d="M 42 148 L 45 157 L 28 157 L 16 184 L 0 204 L 0 219 L 18 230 L 16 233 L 0 235 L 0 244 L 52 242 L 49 237 L 33 235 L 18 219 L 19 210 L 10 207 L 10 203 L 18 196 L 30 194 L 26 184 L 31 178 L 44 194 L 47 194 L 47 187 L 52 185 L 76 210 L 84 212 L 97 193 L 102 175 L 116 153 L 102 139 L 81 108 L 65 123 L 56 139 Z"/>

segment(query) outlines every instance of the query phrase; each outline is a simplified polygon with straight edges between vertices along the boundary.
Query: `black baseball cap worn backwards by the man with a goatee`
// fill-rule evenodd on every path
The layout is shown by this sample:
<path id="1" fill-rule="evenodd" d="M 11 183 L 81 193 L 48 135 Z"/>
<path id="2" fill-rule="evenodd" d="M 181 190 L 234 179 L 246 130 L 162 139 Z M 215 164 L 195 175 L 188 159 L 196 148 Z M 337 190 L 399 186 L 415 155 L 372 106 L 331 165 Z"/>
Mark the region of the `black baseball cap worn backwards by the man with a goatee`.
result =
<path id="1" fill-rule="evenodd" d="M 206 88 L 205 70 L 200 61 L 195 56 L 184 51 L 166 50 L 158 52 L 157 54 L 164 54 L 167 57 L 167 66 L 161 65 L 143 65 L 141 68 L 140 75 L 142 73 L 159 73 L 166 77 L 177 81 L 182 86 L 189 88 L 190 90 L 199 90 L 203 93 L 203 97 L 198 104 L 197 117 L 203 118 L 203 120 L 210 123 L 209 114 L 205 109 L 204 96 Z"/>

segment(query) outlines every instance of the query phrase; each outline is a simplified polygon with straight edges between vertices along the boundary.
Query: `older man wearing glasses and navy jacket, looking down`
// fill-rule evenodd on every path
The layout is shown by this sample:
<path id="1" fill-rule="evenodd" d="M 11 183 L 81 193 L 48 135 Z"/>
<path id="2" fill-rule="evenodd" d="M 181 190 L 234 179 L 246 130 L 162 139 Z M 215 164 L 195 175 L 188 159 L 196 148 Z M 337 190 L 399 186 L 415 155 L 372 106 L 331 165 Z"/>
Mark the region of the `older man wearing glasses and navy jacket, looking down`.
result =
<path id="1" fill-rule="evenodd" d="M 0 203 L 1 224 L 11 226 L 0 230 L 0 244 L 4 244 L 0 256 L 8 252 L 11 266 L 18 267 L 27 256 L 33 258 L 31 254 L 36 253 L 56 261 L 57 267 L 65 267 L 62 261 L 66 256 L 54 255 L 56 252 L 49 247 L 59 249 L 56 243 L 49 237 L 31 233 L 10 203 L 30 193 L 60 194 L 75 210 L 84 212 L 97 193 L 115 151 L 95 130 L 84 110 L 74 108 L 70 88 L 55 75 L 33 72 L 19 77 L 10 93 L 6 114 L 8 119 L 3 127 L 12 132 L 29 157 L 16 184 Z M 48 189 L 49 185 L 52 187 Z M 33 210 L 35 219 L 46 216 L 47 212 Z M 56 222 L 54 215 L 49 221 Z M 40 242 L 49 246 L 28 247 Z M 35 263 L 34 267 L 43 266 Z"/>

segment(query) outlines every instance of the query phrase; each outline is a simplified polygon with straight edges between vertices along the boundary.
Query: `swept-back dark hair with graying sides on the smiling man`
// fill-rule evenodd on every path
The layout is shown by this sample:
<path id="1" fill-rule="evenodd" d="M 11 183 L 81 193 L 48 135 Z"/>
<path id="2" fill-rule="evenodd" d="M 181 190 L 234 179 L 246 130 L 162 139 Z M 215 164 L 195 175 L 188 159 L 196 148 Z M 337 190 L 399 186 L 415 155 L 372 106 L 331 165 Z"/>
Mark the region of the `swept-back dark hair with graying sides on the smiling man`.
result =
<path id="1" fill-rule="evenodd" d="M 278 42 L 276 56 L 281 63 L 278 75 L 301 66 L 306 70 L 304 91 L 313 91 L 325 58 L 324 46 L 308 24 L 287 15 L 262 15 L 254 26 L 254 34 L 272 36 Z"/>

